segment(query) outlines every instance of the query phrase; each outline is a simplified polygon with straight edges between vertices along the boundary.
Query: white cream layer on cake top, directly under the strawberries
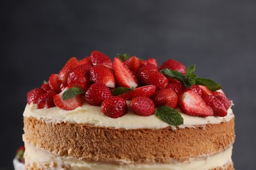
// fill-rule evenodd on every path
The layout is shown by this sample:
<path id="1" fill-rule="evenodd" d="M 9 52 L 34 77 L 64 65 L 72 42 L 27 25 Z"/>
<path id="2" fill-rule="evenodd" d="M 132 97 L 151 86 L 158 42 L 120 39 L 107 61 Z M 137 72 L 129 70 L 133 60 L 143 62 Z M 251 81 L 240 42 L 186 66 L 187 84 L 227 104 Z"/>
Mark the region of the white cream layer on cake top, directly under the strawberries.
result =
<path id="1" fill-rule="evenodd" d="M 183 127 L 195 127 L 204 126 L 206 124 L 219 124 L 221 122 L 228 122 L 234 117 L 232 109 L 228 109 L 227 116 L 217 117 L 208 116 L 205 118 L 198 116 L 189 116 L 184 114 L 181 110 L 177 109 L 182 118 L 184 119 L 184 124 L 178 126 Z M 90 124 L 93 126 L 102 127 L 114 127 L 114 128 L 124 128 L 124 129 L 139 129 L 139 128 L 151 128 L 151 129 L 161 129 L 163 127 L 170 126 L 169 124 L 163 122 L 154 114 L 151 116 L 139 116 L 135 114 L 131 109 L 119 118 L 110 118 L 103 114 L 100 107 L 89 105 L 88 103 L 83 103 L 81 107 L 77 107 L 74 110 L 63 110 L 58 107 L 52 107 L 50 109 L 37 109 L 37 105 L 26 105 L 24 110 L 24 117 L 34 117 L 45 122 L 69 122 L 75 124 Z M 171 126 L 175 129 L 175 126 Z"/>

